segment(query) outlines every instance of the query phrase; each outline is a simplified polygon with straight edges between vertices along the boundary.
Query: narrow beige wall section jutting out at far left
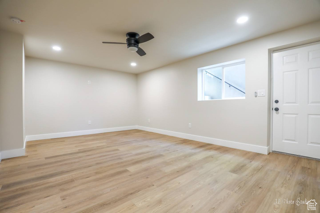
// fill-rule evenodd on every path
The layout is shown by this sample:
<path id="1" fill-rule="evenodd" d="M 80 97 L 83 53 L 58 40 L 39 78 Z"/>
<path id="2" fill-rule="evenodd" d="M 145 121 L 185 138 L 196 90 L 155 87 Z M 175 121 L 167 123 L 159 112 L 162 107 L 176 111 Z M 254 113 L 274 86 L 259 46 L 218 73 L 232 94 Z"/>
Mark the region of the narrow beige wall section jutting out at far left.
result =
<path id="1" fill-rule="evenodd" d="M 23 148 L 23 36 L 0 30 L 1 151 Z"/>

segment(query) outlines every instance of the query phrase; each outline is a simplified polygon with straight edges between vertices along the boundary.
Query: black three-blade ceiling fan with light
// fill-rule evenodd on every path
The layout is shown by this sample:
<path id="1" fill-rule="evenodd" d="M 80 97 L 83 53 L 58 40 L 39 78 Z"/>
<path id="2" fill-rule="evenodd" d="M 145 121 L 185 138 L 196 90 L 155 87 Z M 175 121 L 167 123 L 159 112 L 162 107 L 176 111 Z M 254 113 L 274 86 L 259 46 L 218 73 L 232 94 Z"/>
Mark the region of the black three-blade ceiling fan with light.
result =
<path id="1" fill-rule="evenodd" d="M 141 44 L 143 42 L 148 42 L 154 38 L 154 36 L 151 35 L 150 33 L 146 33 L 146 34 L 143 34 L 140 36 L 138 33 L 130 32 L 130 33 L 127 33 L 126 36 L 127 36 L 126 43 L 119 43 L 119 42 L 102 42 L 102 43 L 104 43 L 104 44 L 126 44 L 128 49 L 131 52 L 137 52 L 140 56 L 144 56 L 147 53 L 139 47 L 139 44 Z"/>

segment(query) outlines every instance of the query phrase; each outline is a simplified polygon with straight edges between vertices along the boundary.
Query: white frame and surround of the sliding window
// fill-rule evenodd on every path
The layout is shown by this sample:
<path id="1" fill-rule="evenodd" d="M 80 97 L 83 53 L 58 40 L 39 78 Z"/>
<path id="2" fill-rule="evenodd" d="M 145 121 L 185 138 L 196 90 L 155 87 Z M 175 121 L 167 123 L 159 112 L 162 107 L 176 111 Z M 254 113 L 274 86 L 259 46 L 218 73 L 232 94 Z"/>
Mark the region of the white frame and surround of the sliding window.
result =
<path id="1" fill-rule="evenodd" d="M 225 98 L 224 97 L 224 90 L 225 90 L 225 88 L 224 88 L 224 68 L 229 67 L 229 66 L 241 65 L 241 64 L 245 64 L 245 58 L 198 68 L 198 101 L 245 99 L 245 95 L 244 95 L 244 97 L 235 97 L 235 98 Z M 221 95 L 221 99 L 204 100 L 204 73 L 205 73 L 205 71 L 209 71 L 210 69 L 214 69 L 217 67 L 222 68 L 222 78 L 221 78 L 221 93 L 222 93 L 222 95 Z"/>

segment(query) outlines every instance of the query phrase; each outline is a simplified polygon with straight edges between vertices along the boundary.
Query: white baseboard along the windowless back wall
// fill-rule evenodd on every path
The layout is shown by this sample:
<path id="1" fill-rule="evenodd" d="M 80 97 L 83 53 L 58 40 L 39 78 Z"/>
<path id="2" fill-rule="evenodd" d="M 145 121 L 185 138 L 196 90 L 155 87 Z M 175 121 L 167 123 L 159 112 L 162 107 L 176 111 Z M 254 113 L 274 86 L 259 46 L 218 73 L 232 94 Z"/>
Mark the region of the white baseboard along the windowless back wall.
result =
<path id="1" fill-rule="evenodd" d="M 117 131 L 132 130 L 132 129 L 137 129 L 137 126 L 122 126 L 122 127 L 91 129 L 91 130 L 83 130 L 83 131 L 75 131 L 75 132 L 27 135 L 26 141 L 36 141 L 36 140 L 44 140 L 44 139 L 52 139 L 52 138 L 64 138 L 64 137 L 98 134 L 98 133 L 109 133 L 109 132 L 117 132 Z"/>

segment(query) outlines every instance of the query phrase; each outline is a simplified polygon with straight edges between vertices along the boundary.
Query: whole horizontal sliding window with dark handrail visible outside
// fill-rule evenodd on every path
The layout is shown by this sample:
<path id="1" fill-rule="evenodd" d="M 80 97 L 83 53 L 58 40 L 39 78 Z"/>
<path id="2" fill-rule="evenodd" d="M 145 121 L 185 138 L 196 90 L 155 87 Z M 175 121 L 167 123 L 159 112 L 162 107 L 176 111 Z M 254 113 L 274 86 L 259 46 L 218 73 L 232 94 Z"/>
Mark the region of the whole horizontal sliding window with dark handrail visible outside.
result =
<path id="1" fill-rule="evenodd" d="M 198 68 L 198 101 L 244 98 L 244 59 Z"/>

